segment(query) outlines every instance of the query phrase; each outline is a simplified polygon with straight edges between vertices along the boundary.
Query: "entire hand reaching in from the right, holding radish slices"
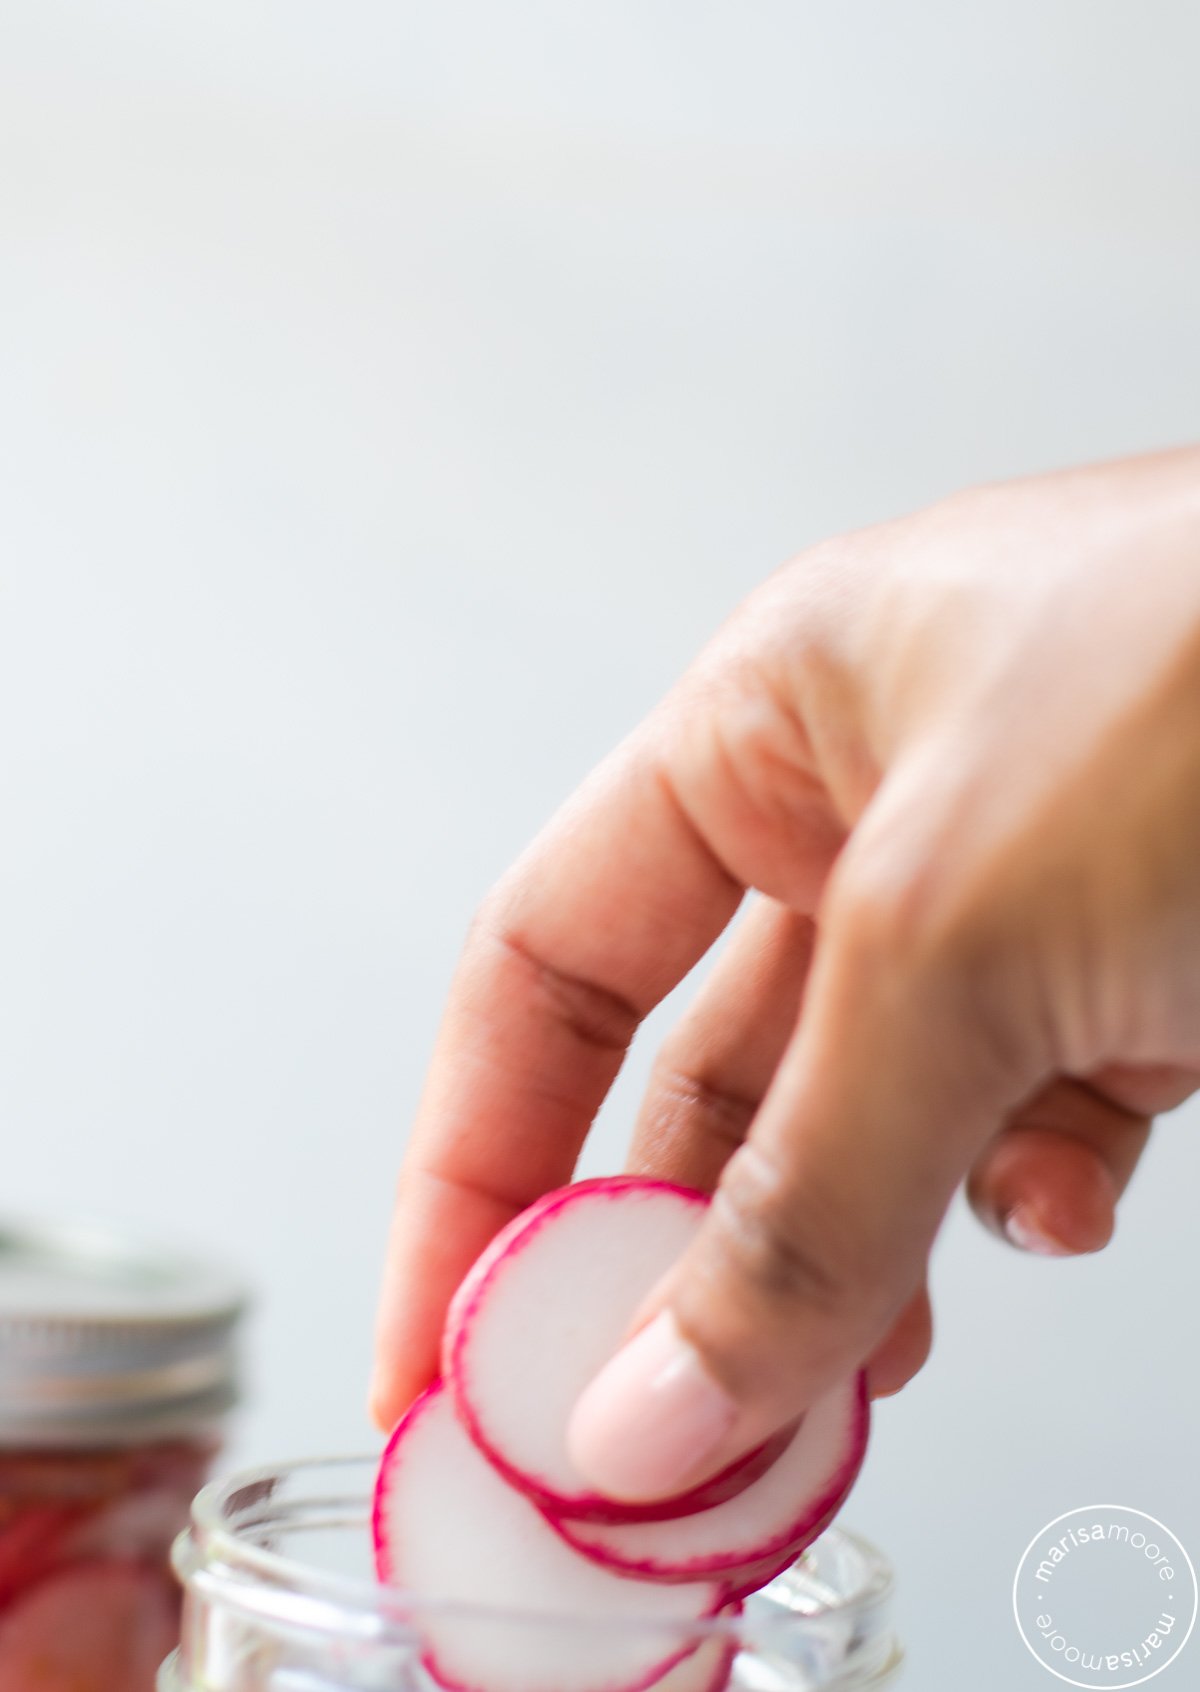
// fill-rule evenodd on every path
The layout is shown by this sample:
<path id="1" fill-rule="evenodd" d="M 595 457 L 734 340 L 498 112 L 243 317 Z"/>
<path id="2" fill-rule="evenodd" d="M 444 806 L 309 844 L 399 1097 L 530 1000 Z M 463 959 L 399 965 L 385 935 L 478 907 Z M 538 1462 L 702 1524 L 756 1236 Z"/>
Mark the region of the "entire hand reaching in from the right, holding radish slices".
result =
<path id="1" fill-rule="evenodd" d="M 399 1181 L 384 1425 L 746 890 L 631 1157 L 714 1203 L 572 1423 L 618 1497 L 702 1479 L 863 1360 L 899 1387 L 963 1178 L 1016 1245 L 1102 1247 L 1151 1113 L 1200 1083 L 1200 450 L 816 547 L 503 878 Z"/>

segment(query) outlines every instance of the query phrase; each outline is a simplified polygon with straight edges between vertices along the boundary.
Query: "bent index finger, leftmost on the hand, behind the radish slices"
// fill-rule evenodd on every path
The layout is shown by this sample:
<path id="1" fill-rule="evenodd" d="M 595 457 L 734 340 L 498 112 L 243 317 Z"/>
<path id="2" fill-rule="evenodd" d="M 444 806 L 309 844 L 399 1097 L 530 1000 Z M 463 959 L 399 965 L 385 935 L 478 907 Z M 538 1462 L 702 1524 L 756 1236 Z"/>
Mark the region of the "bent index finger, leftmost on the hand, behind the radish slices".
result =
<path id="1" fill-rule="evenodd" d="M 570 1179 L 638 1024 L 707 951 L 741 893 L 643 729 L 489 895 L 399 1174 L 376 1335 L 372 1415 L 383 1426 L 433 1376 L 465 1271 L 511 1217 Z"/>

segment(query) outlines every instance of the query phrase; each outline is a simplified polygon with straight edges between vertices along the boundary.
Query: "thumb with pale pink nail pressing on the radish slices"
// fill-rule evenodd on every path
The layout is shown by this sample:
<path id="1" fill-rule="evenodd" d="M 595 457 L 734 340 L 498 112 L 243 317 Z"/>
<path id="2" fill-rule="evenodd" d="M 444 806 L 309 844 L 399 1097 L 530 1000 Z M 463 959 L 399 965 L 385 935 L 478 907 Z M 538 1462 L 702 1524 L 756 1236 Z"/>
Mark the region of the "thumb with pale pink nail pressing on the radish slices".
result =
<path id="1" fill-rule="evenodd" d="M 988 1010 L 997 971 L 972 953 L 938 936 L 924 898 L 838 876 L 750 1137 L 650 1320 L 575 1406 L 570 1450 L 592 1486 L 652 1499 L 706 1479 L 883 1338 L 955 1188 L 1032 1085 L 1032 1042 Z"/>

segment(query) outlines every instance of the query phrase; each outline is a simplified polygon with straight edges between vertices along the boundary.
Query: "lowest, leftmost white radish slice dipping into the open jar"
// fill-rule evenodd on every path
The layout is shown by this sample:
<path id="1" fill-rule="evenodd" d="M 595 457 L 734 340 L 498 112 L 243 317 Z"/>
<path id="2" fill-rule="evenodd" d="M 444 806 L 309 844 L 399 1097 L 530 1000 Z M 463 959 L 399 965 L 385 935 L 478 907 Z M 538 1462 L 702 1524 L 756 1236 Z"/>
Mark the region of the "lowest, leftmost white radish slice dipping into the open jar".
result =
<path id="1" fill-rule="evenodd" d="M 430 1606 L 423 1662 L 452 1692 L 643 1692 L 724 1602 L 719 1582 L 628 1580 L 572 1552 L 476 1450 L 442 1386 L 388 1443 L 374 1543 L 379 1579 Z"/>

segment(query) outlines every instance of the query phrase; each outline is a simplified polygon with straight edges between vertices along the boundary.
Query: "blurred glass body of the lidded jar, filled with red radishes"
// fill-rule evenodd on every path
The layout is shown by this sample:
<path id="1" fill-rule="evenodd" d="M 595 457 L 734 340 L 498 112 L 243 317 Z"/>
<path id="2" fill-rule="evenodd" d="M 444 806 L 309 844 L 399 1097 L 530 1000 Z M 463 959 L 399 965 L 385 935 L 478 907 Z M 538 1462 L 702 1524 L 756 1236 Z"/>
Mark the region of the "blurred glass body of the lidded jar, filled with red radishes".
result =
<path id="1" fill-rule="evenodd" d="M 171 1541 L 213 1442 L 0 1450 L 0 1687 L 154 1692 L 179 1638 Z"/>

